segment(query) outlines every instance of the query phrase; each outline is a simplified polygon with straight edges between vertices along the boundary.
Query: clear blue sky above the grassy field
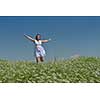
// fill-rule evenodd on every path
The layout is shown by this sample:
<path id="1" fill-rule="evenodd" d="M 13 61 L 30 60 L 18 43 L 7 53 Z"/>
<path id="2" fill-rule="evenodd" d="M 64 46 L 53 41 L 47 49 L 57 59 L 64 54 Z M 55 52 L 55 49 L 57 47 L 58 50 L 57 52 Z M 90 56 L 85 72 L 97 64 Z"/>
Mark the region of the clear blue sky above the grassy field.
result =
<path id="1" fill-rule="evenodd" d="M 47 59 L 100 56 L 100 17 L 0 17 L 0 58 L 33 60 L 34 44 L 23 34 L 42 39 Z"/>

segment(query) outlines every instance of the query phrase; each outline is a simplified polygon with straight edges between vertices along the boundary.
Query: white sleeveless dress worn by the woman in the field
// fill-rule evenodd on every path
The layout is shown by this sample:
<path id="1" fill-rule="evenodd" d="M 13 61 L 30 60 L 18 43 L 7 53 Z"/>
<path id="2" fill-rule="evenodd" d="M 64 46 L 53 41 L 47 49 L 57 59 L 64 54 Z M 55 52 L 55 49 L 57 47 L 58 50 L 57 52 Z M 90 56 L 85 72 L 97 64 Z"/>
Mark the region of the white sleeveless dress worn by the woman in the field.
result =
<path id="1" fill-rule="evenodd" d="M 45 49 L 42 46 L 42 41 L 35 40 L 35 56 L 36 57 L 44 57 L 46 55 Z"/>

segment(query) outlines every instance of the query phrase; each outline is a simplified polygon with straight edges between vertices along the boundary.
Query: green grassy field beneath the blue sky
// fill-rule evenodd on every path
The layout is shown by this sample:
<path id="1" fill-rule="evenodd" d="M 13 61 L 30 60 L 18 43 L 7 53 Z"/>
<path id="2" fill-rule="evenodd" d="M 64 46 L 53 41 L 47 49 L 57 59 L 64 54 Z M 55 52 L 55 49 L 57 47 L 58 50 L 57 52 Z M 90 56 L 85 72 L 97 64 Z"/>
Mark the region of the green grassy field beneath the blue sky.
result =
<path id="1" fill-rule="evenodd" d="M 0 83 L 87 82 L 100 82 L 100 58 L 79 57 L 40 64 L 0 60 Z"/>

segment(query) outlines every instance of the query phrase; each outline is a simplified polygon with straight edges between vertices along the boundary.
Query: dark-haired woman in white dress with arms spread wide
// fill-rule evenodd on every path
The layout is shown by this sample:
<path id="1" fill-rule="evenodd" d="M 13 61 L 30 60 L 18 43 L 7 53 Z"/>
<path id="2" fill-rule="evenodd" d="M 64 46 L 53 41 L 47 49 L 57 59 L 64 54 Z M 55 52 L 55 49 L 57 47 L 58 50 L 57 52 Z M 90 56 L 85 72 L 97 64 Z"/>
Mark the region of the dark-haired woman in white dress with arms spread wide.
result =
<path id="1" fill-rule="evenodd" d="M 24 36 L 31 40 L 34 44 L 35 44 L 35 56 L 36 56 L 36 61 L 38 62 L 43 62 L 44 61 L 44 56 L 46 55 L 45 49 L 42 46 L 42 43 L 47 43 L 48 41 L 50 41 L 51 39 L 48 40 L 41 40 L 41 35 L 37 34 L 35 39 L 33 39 L 31 36 L 29 35 L 25 35 Z"/>

